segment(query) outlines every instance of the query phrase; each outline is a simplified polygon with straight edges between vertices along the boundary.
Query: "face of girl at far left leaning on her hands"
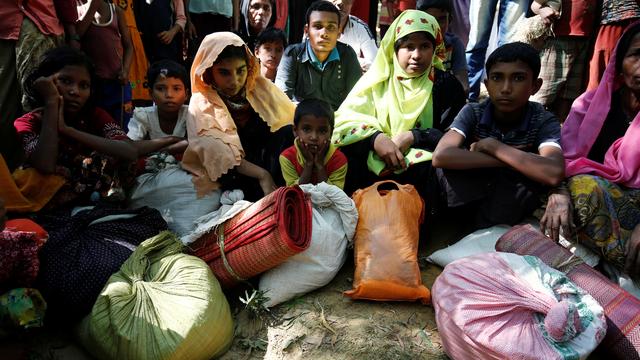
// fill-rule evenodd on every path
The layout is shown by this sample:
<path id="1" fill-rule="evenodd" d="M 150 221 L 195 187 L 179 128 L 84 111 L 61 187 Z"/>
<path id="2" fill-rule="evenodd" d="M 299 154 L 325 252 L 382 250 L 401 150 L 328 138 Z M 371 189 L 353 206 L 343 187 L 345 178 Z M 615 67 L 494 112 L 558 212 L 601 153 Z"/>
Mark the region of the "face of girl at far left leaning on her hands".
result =
<path id="1" fill-rule="evenodd" d="M 84 66 L 67 65 L 56 73 L 56 87 L 64 99 L 64 112 L 76 114 L 91 96 L 91 76 Z"/>

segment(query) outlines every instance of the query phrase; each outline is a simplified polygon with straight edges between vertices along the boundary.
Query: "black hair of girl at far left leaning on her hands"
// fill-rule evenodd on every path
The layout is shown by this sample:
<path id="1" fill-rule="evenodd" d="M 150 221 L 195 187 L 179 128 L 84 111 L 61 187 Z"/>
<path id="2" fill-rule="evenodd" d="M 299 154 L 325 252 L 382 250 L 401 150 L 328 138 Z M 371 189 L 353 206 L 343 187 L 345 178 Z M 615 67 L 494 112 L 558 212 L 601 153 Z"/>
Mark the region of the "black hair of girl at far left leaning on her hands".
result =
<path id="1" fill-rule="evenodd" d="M 45 52 L 40 58 L 38 66 L 25 78 L 22 86 L 24 88 L 27 102 L 31 107 L 36 108 L 44 104 L 42 96 L 33 88 L 33 83 L 40 77 L 51 76 L 62 70 L 65 66 L 81 66 L 87 69 L 91 79 L 91 94 L 84 105 L 83 110 L 93 109 L 93 95 L 95 94 L 96 76 L 95 68 L 91 59 L 82 51 L 70 46 L 60 46 Z"/>

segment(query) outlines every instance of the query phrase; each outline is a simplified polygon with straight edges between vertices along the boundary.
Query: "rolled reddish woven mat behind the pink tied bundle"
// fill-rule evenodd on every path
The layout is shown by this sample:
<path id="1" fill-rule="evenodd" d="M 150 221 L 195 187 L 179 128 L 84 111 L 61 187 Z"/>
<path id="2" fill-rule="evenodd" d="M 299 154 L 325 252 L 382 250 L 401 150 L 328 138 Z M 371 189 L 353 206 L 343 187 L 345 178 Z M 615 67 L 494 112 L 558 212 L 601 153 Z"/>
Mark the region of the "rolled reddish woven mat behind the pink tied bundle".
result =
<path id="1" fill-rule="evenodd" d="M 592 269 L 531 225 L 516 226 L 504 234 L 496 250 L 537 256 L 567 274 L 604 308 L 607 335 L 602 347 L 616 359 L 640 359 L 640 300 Z"/>

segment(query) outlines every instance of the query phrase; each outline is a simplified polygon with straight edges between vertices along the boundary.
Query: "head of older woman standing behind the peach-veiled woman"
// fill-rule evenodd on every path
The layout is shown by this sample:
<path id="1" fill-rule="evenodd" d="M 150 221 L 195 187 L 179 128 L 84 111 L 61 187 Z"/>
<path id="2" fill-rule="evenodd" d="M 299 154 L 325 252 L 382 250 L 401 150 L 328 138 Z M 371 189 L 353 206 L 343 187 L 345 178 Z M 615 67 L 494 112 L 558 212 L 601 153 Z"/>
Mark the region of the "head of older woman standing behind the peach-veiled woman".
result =
<path id="1" fill-rule="evenodd" d="M 276 3 L 273 0 L 242 0 L 238 31 L 249 49 L 255 49 L 258 34 L 276 22 Z"/>

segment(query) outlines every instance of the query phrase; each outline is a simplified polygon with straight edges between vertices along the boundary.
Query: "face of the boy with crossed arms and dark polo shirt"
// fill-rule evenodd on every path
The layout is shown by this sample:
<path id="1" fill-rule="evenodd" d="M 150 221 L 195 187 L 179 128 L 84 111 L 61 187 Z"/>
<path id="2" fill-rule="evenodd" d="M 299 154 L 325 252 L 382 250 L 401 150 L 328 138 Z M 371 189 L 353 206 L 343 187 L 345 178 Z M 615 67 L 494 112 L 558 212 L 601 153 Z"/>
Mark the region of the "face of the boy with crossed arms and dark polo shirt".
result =
<path id="1" fill-rule="evenodd" d="M 535 79 L 533 71 L 521 60 L 497 62 L 491 67 L 484 81 L 496 115 L 517 113 L 540 89 L 542 79 Z"/>

